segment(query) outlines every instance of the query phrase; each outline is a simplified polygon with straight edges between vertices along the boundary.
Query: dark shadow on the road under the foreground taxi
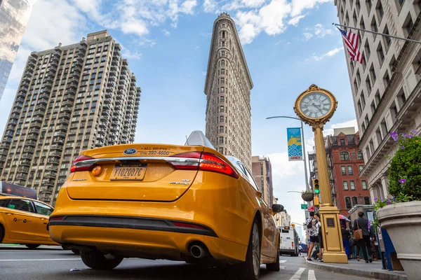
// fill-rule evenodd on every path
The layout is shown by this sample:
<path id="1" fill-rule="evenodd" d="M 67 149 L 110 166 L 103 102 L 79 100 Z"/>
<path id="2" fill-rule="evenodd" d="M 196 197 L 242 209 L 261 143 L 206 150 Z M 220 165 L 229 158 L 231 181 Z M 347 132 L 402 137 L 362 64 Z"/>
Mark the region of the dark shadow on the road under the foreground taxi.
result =
<path id="1" fill-rule="evenodd" d="M 262 266 L 260 276 L 274 274 Z M 149 267 L 117 267 L 108 271 L 84 268 L 82 271 L 55 273 L 56 279 L 162 279 L 162 280 L 223 280 L 239 279 L 230 267 L 201 267 L 196 265 L 159 265 Z"/>

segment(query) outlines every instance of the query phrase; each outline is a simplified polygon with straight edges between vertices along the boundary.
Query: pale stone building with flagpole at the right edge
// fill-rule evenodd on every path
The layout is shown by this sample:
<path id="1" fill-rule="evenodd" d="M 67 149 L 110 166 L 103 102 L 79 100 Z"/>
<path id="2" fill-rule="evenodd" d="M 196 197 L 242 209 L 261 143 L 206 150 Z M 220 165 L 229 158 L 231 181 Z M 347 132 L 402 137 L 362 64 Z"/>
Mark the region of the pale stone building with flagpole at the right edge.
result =
<path id="1" fill-rule="evenodd" d="M 341 25 L 421 40 L 421 1 L 335 0 Z M 356 32 L 354 30 L 354 32 Z M 387 197 L 387 169 L 398 146 L 391 132 L 420 131 L 421 48 L 395 38 L 358 31 L 363 63 L 347 66 L 356 117 L 359 148 L 366 165 L 360 173 L 368 178 L 373 198 Z"/>

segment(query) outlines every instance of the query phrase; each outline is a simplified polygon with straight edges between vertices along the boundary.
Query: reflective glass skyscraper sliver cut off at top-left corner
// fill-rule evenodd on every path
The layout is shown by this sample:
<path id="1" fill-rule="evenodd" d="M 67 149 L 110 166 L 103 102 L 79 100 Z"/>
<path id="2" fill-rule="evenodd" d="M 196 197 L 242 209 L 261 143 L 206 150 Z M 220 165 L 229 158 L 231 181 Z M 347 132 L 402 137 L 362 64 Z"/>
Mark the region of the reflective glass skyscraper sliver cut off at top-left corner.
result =
<path id="1" fill-rule="evenodd" d="M 36 0 L 0 0 L 0 100 Z"/>

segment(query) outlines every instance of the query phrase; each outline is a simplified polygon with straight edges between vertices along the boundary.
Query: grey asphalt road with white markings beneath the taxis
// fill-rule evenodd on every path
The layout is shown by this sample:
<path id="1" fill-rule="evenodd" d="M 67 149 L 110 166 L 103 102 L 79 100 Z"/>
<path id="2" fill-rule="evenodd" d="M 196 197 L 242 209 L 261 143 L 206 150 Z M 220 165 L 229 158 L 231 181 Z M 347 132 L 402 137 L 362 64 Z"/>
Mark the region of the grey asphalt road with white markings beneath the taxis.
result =
<path id="1" fill-rule="evenodd" d="M 125 259 L 111 271 L 95 271 L 83 265 L 79 255 L 61 247 L 0 244 L 0 280 L 67 280 L 67 279 L 235 279 L 229 269 L 197 267 L 185 262 L 167 260 Z M 307 267 L 302 257 L 281 256 L 281 270 L 268 272 L 262 265 L 262 280 L 361 280 L 366 278 L 335 274 Z"/>

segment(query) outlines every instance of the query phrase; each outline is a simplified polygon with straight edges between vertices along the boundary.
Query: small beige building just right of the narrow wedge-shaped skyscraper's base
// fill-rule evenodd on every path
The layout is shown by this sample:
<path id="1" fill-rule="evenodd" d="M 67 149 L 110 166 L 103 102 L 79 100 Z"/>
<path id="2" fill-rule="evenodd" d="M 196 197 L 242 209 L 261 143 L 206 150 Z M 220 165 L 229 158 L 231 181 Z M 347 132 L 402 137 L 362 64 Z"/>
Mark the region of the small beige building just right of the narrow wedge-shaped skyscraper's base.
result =
<path id="1" fill-rule="evenodd" d="M 272 207 L 274 200 L 274 187 L 272 185 L 272 165 L 269 158 L 253 156 L 252 175 L 256 184 L 262 192 L 262 198 L 269 207 Z"/>

